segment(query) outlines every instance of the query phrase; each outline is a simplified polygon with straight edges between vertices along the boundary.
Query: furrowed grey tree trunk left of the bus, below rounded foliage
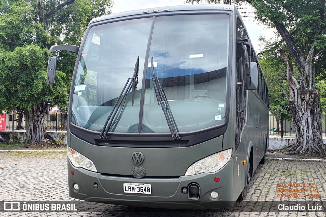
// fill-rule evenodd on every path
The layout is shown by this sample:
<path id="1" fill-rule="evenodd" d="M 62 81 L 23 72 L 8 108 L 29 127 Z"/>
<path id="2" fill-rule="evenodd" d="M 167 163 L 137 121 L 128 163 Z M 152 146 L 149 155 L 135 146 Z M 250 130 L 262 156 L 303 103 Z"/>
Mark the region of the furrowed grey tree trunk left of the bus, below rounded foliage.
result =
<path id="1" fill-rule="evenodd" d="M 49 104 L 42 102 L 33 105 L 31 111 L 26 113 L 26 143 L 46 143 L 45 116 L 48 112 Z"/>

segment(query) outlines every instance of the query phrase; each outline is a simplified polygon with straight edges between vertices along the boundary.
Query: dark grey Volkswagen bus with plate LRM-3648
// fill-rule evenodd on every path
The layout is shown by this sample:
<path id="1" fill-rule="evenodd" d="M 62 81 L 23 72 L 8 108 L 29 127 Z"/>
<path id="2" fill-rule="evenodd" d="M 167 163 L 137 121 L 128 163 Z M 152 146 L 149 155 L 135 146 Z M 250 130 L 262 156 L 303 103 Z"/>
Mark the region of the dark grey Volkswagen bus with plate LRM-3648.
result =
<path id="1" fill-rule="evenodd" d="M 239 12 L 184 5 L 93 19 L 69 101 L 73 198 L 207 209 L 243 200 L 268 147 L 268 89 Z"/>

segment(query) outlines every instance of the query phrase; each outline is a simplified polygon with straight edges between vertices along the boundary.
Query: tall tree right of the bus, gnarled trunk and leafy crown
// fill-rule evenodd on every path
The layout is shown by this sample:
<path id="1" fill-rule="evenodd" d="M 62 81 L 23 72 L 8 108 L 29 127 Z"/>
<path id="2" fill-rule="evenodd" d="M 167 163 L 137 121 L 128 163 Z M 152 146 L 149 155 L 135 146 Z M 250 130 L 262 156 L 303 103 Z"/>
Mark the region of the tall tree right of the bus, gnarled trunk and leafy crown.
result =
<path id="1" fill-rule="evenodd" d="M 200 2 L 200 0 L 186 0 Z M 207 1 L 217 3 L 219 1 Z M 247 2 L 256 9 L 256 18 L 274 26 L 286 45 L 279 55 L 287 66 L 288 99 L 292 114 L 296 143 L 295 153 L 325 155 L 322 143 L 319 91 L 316 77 L 325 66 L 326 37 L 325 1 L 312 0 L 236 0 Z M 298 78 L 293 72 L 294 62 Z"/>

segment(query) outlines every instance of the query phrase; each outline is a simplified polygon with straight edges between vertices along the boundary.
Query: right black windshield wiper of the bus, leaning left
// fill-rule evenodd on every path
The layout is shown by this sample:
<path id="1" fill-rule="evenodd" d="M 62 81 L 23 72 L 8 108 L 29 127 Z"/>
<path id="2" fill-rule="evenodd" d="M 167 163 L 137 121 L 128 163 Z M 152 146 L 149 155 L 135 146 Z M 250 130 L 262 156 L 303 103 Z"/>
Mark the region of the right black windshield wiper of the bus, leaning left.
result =
<path id="1" fill-rule="evenodd" d="M 177 126 L 176 126 L 175 120 L 172 116 L 171 108 L 167 101 L 167 97 L 164 93 L 164 90 L 162 89 L 161 84 L 159 83 L 158 78 L 155 76 L 153 57 L 152 57 L 152 61 L 151 61 L 151 67 L 152 67 L 152 80 L 153 80 L 153 84 L 154 84 L 154 91 L 155 91 L 158 105 L 160 105 L 163 110 L 163 113 L 164 113 L 165 119 L 167 120 L 168 127 L 170 129 L 172 138 L 174 140 L 180 140 L 181 137 L 178 134 Z"/>

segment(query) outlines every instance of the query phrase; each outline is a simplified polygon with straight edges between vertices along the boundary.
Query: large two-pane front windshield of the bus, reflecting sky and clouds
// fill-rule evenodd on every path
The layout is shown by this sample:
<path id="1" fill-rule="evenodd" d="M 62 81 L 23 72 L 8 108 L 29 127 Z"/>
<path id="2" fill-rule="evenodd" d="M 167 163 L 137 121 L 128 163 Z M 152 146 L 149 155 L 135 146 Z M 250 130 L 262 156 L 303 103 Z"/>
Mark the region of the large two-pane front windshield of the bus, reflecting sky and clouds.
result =
<path id="1" fill-rule="evenodd" d="M 101 131 L 139 56 L 137 88 L 123 98 L 109 132 L 170 132 L 153 87 L 152 58 L 178 132 L 223 124 L 229 19 L 226 14 L 174 15 L 93 26 L 75 73 L 72 123 Z"/>

